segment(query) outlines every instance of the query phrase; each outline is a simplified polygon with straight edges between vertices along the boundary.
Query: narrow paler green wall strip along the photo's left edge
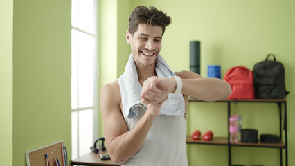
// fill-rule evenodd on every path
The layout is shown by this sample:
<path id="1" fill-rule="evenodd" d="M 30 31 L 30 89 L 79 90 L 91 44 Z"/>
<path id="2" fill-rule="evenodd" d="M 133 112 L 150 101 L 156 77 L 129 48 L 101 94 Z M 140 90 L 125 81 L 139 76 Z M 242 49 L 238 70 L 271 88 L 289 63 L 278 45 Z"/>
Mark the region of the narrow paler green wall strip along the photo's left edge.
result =
<path id="1" fill-rule="evenodd" d="M 0 160 L 12 165 L 13 1 L 0 0 Z"/>

